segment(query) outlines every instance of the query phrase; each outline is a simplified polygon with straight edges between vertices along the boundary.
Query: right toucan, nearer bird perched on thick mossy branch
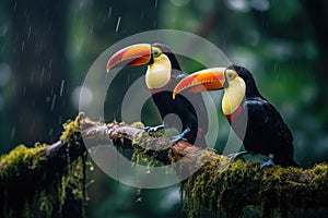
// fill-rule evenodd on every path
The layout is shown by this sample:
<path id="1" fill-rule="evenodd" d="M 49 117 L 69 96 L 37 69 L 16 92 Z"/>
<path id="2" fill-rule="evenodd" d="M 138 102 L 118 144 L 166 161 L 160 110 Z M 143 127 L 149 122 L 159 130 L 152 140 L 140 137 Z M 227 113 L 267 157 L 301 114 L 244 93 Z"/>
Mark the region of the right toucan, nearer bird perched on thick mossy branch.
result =
<path id="1" fill-rule="evenodd" d="M 251 73 L 239 65 L 198 71 L 181 80 L 173 98 L 181 92 L 200 93 L 224 89 L 222 111 L 236 135 L 243 141 L 245 152 L 269 156 L 261 164 L 294 166 L 293 136 L 282 117 L 259 93 Z M 235 157 L 237 157 L 235 156 Z"/>

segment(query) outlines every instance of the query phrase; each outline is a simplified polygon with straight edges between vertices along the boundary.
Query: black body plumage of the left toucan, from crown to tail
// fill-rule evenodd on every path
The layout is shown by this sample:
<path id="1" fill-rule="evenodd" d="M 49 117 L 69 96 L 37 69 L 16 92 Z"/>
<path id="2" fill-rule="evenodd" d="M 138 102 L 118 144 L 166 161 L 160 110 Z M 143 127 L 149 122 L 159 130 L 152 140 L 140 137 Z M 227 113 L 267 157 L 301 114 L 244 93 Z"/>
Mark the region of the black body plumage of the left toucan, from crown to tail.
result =
<path id="1" fill-rule="evenodd" d="M 181 94 L 175 99 L 172 98 L 176 84 L 187 76 L 175 55 L 163 44 L 153 44 L 165 53 L 172 64 L 171 81 L 164 88 L 150 89 L 154 104 L 156 105 L 165 128 L 176 128 L 184 131 L 187 128 L 190 132 L 185 135 L 189 143 L 204 147 L 204 134 L 208 131 L 208 113 L 201 94 Z M 177 118 L 178 117 L 178 118 Z M 197 141 L 196 141 L 197 140 Z"/>

